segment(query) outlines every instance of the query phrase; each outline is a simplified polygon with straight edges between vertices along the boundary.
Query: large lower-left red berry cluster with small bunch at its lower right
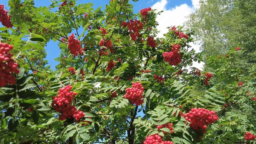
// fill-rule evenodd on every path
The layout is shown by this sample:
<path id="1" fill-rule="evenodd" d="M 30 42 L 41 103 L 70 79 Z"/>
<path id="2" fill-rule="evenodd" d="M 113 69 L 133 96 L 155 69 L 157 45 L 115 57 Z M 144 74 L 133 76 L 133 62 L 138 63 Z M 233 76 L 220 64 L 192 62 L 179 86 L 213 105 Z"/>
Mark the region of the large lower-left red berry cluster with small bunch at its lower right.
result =
<path id="1" fill-rule="evenodd" d="M 52 108 L 57 112 L 61 113 L 59 120 L 66 120 L 67 118 L 76 118 L 76 121 L 84 117 L 84 113 L 72 106 L 73 96 L 76 96 L 76 92 L 70 91 L 72 89 L 71 85 L 60 88 L 57 97 L 52 97 L 54 101 L 52 102 Z"/>

